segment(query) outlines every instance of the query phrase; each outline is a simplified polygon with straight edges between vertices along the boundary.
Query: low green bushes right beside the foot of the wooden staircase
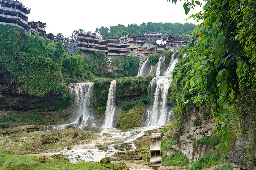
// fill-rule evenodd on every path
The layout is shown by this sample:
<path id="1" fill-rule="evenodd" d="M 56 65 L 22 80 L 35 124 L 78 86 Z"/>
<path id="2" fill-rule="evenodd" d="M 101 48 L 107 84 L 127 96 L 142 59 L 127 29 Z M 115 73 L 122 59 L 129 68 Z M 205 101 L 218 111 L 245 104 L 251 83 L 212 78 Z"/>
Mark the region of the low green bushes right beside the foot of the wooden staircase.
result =
<path id="1" fill-rule="evenodd" d="M 185 166 L 188 165 L 188 157 L 179 153 L 172 153 L 170 156 L 167 154 L 162 157 L 162 166 Z"/>

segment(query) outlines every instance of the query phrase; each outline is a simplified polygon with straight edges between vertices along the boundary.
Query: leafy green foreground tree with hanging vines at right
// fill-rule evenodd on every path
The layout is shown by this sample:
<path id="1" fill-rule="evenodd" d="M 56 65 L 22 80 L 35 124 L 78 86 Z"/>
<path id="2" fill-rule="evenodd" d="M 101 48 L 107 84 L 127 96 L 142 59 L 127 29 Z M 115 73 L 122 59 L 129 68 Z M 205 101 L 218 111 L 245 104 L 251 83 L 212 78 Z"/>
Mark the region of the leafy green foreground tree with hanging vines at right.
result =
<path id="1" fill-rule="evenodd" d="M 171 0 L 169 0 L 171 1 Z M 176 4 L 177 0 L 172 0 Z M 236 108 L 240 91 L 255 87 L 256 81 L 256 11 L 251 0 L 186 0 L 185 13 L 196 5 L 205 4 L 204 12 L 190 18 L 201 21 L 191 38 L 197 33 L 199 43 L 188 57 L 195 64 L 192 78 L 187 82 L 197 91 L 194 102 L 206 101 L 216 120 L 214 131 L 223 131 L 223 150 L 228 147 L 229 107 Z M 189 102 L 189 101 L 187 101 Z M 252 117 L 249 114 L 248 117 Z M 226 152 L 227 154 L 227 152 Z M 228 159 L 226 159 L 228 161 Z"/>

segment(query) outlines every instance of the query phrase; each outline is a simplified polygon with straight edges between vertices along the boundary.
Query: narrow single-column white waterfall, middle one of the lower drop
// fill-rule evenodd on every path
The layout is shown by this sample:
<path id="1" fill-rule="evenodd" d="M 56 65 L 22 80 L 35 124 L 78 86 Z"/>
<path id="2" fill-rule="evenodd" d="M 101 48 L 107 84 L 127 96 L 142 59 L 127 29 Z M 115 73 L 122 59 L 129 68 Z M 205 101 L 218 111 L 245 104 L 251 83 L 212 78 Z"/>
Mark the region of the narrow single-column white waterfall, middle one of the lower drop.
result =
<path id="1" fill-rule="evenodd" d="M 114 114 L 116 110 L 115 103 L 116 103 L 116 80 L 112 80 L 109 87 L 108 102 L 107 102 L 107 107 L 105 112 L 105 123 L 103 125 L 103 127 L 105 128 L 113 127 L 113 119 L 114 119 Z"/>

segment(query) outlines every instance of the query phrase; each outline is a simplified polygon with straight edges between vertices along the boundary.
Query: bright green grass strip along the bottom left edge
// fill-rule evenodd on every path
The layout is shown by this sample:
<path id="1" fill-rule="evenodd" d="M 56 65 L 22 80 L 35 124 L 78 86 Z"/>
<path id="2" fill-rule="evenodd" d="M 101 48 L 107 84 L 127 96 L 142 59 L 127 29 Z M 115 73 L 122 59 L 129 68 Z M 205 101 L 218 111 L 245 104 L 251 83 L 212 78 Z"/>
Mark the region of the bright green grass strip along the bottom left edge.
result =
<path id="1" fill-rule="evenodd" d="M 36 156 L 12 155 L 8 150 L 0 149 L 0 170 L 107 170 L 118 169 L 116 164 L 100 164 L 99 162 L 69 163 L 66 159 L 47 159 L 39 162 Z"/>

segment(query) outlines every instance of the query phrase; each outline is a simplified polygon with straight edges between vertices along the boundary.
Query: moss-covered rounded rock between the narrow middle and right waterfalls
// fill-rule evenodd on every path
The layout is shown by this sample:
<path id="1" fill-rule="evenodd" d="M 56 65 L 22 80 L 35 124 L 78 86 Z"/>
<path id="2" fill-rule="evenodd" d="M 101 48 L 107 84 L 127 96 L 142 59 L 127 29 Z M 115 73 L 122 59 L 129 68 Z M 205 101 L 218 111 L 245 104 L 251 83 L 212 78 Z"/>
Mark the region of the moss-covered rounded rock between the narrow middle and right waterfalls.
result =
<path id="1" fill-rule="evenodd" d="M 128 112 L 125 112 L 120 121 L 120 129 L 140 126 L 143 123 L 144 110 L 145 105 L 139 104 L 138 106 L 130 109 Z"/>

